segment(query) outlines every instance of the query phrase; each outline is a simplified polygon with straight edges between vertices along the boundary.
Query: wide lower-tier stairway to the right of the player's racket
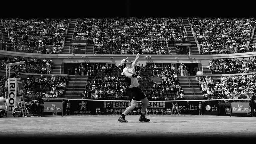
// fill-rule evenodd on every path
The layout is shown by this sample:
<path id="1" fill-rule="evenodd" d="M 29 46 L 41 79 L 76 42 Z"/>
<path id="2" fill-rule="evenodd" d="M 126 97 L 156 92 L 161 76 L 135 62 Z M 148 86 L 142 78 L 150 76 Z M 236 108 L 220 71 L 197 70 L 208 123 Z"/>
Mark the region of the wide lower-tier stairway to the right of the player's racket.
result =
<path id="1" fill-rule="evenodd" d="M 202 92 L 197 85 L 195 76 L 178 76 L 178 79 L 187 100 L 204 99 Z"/>

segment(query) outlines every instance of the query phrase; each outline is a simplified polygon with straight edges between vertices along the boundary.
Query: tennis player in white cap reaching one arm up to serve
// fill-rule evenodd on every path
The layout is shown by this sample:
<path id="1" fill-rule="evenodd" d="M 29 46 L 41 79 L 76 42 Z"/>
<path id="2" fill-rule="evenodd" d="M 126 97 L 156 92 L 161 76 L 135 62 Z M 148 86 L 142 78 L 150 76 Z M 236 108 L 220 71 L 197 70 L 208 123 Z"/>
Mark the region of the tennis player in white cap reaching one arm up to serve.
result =
<path id="1" fill-rule="evenodd" d="M 131 60 L 129 60 L 128 57 L 125 59 L 122 59 L 122 61 L 121 61 L 121 64 L 124 66 L 123 74 L 125 76 L 125 81 L 127 83 L 126 94 L 129 97 L 131 105 L 129 107 L 127 107 L 125 109 L 125 111 L 122 113 L 122 115 L 118 118 L 118 121 L 120 121 L 120 122 L 128 122 L 127 120 L 125 120 L 125 116 L 136 107 L 137 101 L 143 102 L 139 121 L 141 121 L 141 122 L 149 122 L 150 121 L 149 119 L 147 119 L 145 117 L 145 111 L 148 107 L 149 101 L 148 101 L 147 97 L 145 96 L 145 94 L 140 89 L 138 80 L 140 80 L 141 77 L 136 75 L 136 73 L 135 73 L 135 66 L 136 66 L 136 64 L 140 58 L 140 55 L 142 54 L 142 50 L 144 48 L 145 48 L 145 45 L 142 44 L 133 63 L 131 63 Z"/>

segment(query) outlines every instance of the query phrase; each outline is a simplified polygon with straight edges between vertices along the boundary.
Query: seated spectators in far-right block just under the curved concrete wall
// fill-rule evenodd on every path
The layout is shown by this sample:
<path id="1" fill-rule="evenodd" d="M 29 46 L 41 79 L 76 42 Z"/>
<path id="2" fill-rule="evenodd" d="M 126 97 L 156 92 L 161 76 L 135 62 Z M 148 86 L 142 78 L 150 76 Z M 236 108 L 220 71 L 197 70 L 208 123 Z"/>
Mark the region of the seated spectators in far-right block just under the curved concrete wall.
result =
<path id="1" fill-rule="evenodd" d="M 236 74 L 256 71 L 256 57 L 251 56 L 247 60 L 242 58 L 210 59 L 208 68 L 212 74 Z"/>

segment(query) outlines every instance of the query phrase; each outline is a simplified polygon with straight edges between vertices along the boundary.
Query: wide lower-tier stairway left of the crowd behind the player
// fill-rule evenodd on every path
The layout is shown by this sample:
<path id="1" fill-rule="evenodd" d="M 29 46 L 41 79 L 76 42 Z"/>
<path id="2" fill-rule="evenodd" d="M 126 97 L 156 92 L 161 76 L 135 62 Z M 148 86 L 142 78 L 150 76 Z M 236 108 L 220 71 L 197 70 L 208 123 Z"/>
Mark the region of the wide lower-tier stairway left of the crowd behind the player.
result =
<path id="1" fill-rule="evenodd" d="M 82 99 L 82 96 L 80 94 L 83 93 L 85 89 L 85 83 L 87 82 L 86 76 L 76 76 L 75 75 L 69 75 L 68 76 L 69 83 L 66 85 L 66 92 L 64 94 L 64 98 L 72 98 L 72 99 Z M 74 85 L 74 91 L 73 90 Z"/>

